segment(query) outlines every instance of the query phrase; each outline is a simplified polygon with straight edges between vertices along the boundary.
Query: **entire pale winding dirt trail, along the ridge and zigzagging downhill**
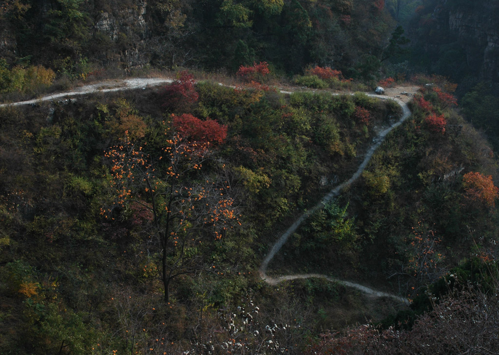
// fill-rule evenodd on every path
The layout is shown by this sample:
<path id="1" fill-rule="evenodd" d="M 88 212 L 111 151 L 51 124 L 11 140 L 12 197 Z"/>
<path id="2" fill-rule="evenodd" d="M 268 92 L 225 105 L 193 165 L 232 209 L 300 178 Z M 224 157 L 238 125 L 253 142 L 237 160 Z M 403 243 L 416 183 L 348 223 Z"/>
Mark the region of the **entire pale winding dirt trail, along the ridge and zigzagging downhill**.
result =
<path id="1" fill-rule="evenodd" d="M 19 102 L 14 102 L 14 103 L 6 103 L 6 104 L 0 104 L 0 108 L 2 107 L 7 107 L 7 106 L 23 106 L 23 105 L 31 105 L 31 104 L 36 104 L 39 102 L 43 101 L 53 101 L 57 99 L 62 99 L 62 98 L 68 98 L 68 97 L 74 97 L 74 96 L 80 96 L 80 95 L 88 95 L 92 93 L 108 93 L 108 92 L 115 92 L 115 91 L 124 91 L 124 90 L 134 90 L 134 89 L 146 89 L 147 87 L 155 87 L 155 86 L 160 86 L 163 84 L 167 83 L 172 83 L 173 79 L 168 79 L 168 78 L 131 78 L 131 79 L 124 79 L 124 80 L 105 80 L 101 81 L 98 83 L 90 84 L 90 85 L 85 85 L 81 86 L 78 88 L 73 89 L 72 91 L 64 92 L 64 93 L 57 93 L 57 94 L 51 94 L 47 95 L 41 98 L 33 99 L 33 100 L 27 100 L 27 101 L 19 101 Z M 222 83 L 219 83 L 219 85 L 224 85 Z M 233 86 L 231 86 L 233 87 Z M 381 131 L 376 138 L 377 141 L 374 145 L 371 146 L 371 148 L 367 151 L 364 160 L 362 163 L 359 165 L 357 171 L 345 182 L 339 184 L 338 186 L 334 187 L 326 196 L 322 198 L 322 200 L 317 203 L 313 208 L 310 210 L 306 211 L 303 213 L 278 239 L 277 241 L 272 245 L 272 248 L 268 252 L 268 254 L 264 257 L 263 261 L 261 262 L 260 268 L 259 268 L 259 273 L 260 277 L 262 280 L 265 282 L 271 284 L 271 285 L 277 285 L 282 281 L 285 280 L 295 280 L 295 279 L 306 279 L 306 278 L 311 278 L 311 277 L 317 277 L 317 278 L 324 278 L 330 282 L 336 282 L 342 285 L 345 285 L 347 287 L 355 288 L 361 292 L 364 292 L 368 295 L 372 295 L 375 297 L 389 297 L 392 299 L 395 299 L 399 302 L 403 302 L 405 304 L 409 304 L 409 301 L 401 296 L 378 291 L 366 286 L 363 286 L 361 284 L 355 283 L 355 282 L 350 282 L 346 280 L 341 280 L 337 279 L 328 275 L 322 275 L 322 274 L 295 274 L 295 275 L 283 275 L 283 276 L 278 276 L 278 277 L 270 277 L 266 275 L 266 270 L 268 267 L 268 263 L 272 258 L 275 256 L 275 254 L 280 250 L 282 245 L 287 241 L 289 236 L 293 234 L 298 227 L 316 210 L 323 208 L 323 206 L 328 203 L 331 199 L 334 197 L 338 196 L 340 191 L 345 187 L 353 183 L 355 180 L 357 180 L 362 174 L 362 172 L 365 170 L 367 164 L 371 160 L 372 155 L 378 149 L 378 147 L 381 145 L 381 143 L 385 140 L 386 135 L 394 128 L 398 127 L 399 125 L 402 124 L 410 115 L 411 111 L 407 107 L 407 104 L 401 100 L 401 97 L 398 95 L 395 95 L 396 93 L 400 92 L 400 90 L 403 91 L 413 91 L 415 92 L 417 90 L 416 87 L 399 87 L 399 88 L 393 88 L 391 91 L 387 92 L 386 94 L 389 95 L 374 95 L 374 94 L 367 94 L 370 97 L 373 98 L 378 98 L 381 100 L 393 100 L 395 101 L 400 107 L 402 108 L 402 117 L 395 123 L 393 123 L 391 126 L 388 128 L 384 129 Z M 290 91 L 284 91 L 280 90 L 282 94 L 292 94 Z M 331 95 L 345 95 L 345 94 L 331 94 Z M 348 94 L 347 94 L 348 95 Z M 353 95 L 353 94 L 351 94 Z M 408 98 L 403 98 L 404 101 L 408 101 Z"/>

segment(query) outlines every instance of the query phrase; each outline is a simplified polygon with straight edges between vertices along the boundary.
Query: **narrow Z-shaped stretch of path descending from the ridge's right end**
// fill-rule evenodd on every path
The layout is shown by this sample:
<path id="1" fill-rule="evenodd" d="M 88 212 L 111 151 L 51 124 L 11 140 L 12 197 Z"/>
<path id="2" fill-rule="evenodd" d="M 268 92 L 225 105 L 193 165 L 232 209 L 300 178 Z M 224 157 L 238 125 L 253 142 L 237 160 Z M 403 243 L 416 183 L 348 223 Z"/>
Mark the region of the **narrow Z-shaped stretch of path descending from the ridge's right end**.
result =
<path id="1" fill-rule="evenodd" d="M 340 94 L 333 94 L 333 95 L 340 95 Z M 261 279 L 263 281 L 265 281 L 265 282 L 267 282 L 267 283 L 269 283 L 271 285 L 276 285 L 276 284 L 278 284 L 278 283 L 280 283 L 281 281 L 284 281 L 284 280 L 304 279 L 304 278 L 311 278 L 311 277 L 325 278 L 328 281 L 337 282 L 337 283 L 345 285 L 347 287 L 355 288 L 355 289 L 357 289 L 359 291 L 362 291 L 362 292 L 367 293 L 367 294 L 372 295 L 372 296 L 376 296 L 376 297 L 390 297 L 390 298 L 395 299 L 397 301 L 401 301 L 401 302 L 403 302 L 405 304 L 409 304 L 409 300 L 407 298 L 404 298 L 404 297 L 401 297 L 401 296 L 398 296 L 398 295 L 394 295 L 394 294 L 390 294 L 390 293 L 386 293 L 386 292 L 377 291 L 377 290 L 371 289 L 369 287 L 360 285 L 358 283 L 354 283 L 354 282 L 350 282 L 350 281 L 346 281 L 346 280 L 340 280 L 340 279 L 337 279 L 337 278 L 334 278 L 334 277 L 331 277 L 331 276 L 328 276 L 328 275 L 321 275 L 321 274 L 296 274 L 296 275 L 284 275 L 284 276 L 279 276 L 279 277 L 271 277 L 271 276 L 268 276 L 266 274 L 268 263 L 270 262 L 270 260 L 273 259 L 273 257 L 275 256 L 275 254 L 280 250 L 280 248 L 282 247 L 282 245 L 284 245 L 284 243 L 287 241 L 287 239 L 289 238 L 289 236 L 291 236 L 298 229 L 298 227 L 312 213 L 314 213 L 318 209 L 323 208 L 324 205 L 327 204 L 331 199 L 333 199 L 334 197 L 338 196 L 339 193 L 340 193 L 340 191 L 345 186 L 348 186 L 351 183 L 353 183 L 355 180 L 357 180 L 359 178 L 360 174 L 362 174 L 362 172 L 365 170 L 367 164 L 371 160 L 371 157 L 373 156 L 373 154 L 376 151 L 376 149 L 378 149 L 378 147 L 381 145 L 381 143 L 383 143 L 383 141 L 385 140 L 386 135 L 392 129 L 394 129 L 394 128 L 398 127 L 399 125 L 401 125 L 411 115 L 411 111 L 407 107 L 407 104 L 403 103 L 399 99 L 389 98 L 389 97 L 382 96 L 382 95 L 374 95 L 374 94 L 367 94 L 367 95 L 370 96 L 370 97 L 379 98 L 379 99 L 382 99 L 382 100 L 393 100 L 393 101 L 395 101 L 402 108 L 402 117 L 397 122 L 395 122 L 394 124 L 392 124 L 390 127 L 386 128 L 385 130 L 383 130 L 383 131 L 381 131 L 379 133 L 378 137 L 376 138 L 377 139 L 376 144 L 374 144 L 373 146 L 371 146 L 371 148 L 367 151 L 367 153 L 366 153 L 366 155 L 364 157 L 364 160 L 362 161 L 362 163 L 358 167 L 357 171 L 350 177 L 350 179 L 348 179 L 347 181 L 345 181 L 345 182 L 339 184 L 338 186 L 334 187 L 326 196 L 324 196 L 322 198 L 322 200 L 319 203 L 317 203 L 310 210 L 308 210 L 305 213 L 303 213 L 279 237 L 279 239 L 277 239 L 277 241 L 272 245 L 272 248 L 270 249 L 270 251 L 268 252 L 268 254 L 265 255 L 265 257 L 263 258 L 263 261 L 261 262 L 260 269 L 259 269 L 260 277 L 261 277 Z"/>

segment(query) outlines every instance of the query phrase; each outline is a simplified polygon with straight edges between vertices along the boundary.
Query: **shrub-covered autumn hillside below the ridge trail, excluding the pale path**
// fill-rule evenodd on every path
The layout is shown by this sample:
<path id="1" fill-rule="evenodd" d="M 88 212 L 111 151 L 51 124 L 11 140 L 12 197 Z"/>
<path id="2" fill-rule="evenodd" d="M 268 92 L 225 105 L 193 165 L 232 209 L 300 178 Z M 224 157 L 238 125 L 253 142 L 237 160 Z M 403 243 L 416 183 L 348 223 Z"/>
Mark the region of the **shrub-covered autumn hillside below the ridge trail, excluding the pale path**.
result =
<path id="1" fill-rule="evenodd" d="M 417 97 L 357 182 L 311 214 L 271 268 L 393 293 L 470 256 L 476 236 L 494 257 L 497 191 L 474 193 L 465 176 L 487 183 L 496 162 L 439 90 Z M 183 74 L 159 90 L 0 115 L 2 354 L 301 354 L 310 332 L 341 326 L 338 312 L 355 323 L 397 310 L 324 280 L 265 285 L 257 272 L 274 235 L 357 171 L 380 127 L 400 116 L 391 101 Z M 411 261 L 426 245 L 410 238 L 423 220 L 435 225 L 422 240 L 429 230 L 442 239 L 435 270 Z M 174 271 L 167 286 L 162 269 Z"/>

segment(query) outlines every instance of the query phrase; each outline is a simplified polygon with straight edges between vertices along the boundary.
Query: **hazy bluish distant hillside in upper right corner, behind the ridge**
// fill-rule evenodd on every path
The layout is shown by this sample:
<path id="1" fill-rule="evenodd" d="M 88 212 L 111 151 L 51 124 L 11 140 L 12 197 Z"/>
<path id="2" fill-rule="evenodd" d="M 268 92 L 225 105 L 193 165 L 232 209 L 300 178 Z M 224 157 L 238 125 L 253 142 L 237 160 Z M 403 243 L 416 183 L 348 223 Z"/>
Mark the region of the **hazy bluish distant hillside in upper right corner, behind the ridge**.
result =
<path id="1" fill-rule="evenodd" d="M 411 24 L 420 63 L 455 81 L 499 81 L 499 3 L 423 1 Z"/>

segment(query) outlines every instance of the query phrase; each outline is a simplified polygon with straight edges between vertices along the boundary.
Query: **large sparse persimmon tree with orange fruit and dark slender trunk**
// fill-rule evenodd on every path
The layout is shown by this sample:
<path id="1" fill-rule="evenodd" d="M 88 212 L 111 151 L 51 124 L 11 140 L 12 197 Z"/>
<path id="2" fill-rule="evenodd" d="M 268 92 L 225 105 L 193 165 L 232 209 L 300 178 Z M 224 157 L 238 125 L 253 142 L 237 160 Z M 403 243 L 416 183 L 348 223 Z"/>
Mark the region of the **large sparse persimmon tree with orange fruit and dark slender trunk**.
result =
<path id="1" fill-rule="evenodd" d="M 224 178 L 225 164 L 212 158 L 213 148 L 227 135 L 227 127 L 191 115 L 173 117 L 173 134 L 168 122 L 163 124 L 164 145 L 157 156 L 145 151 L 146 143 L 139 146 L 127 134 L 106 151 L 116 199 L 101 213 L 113 219 L 113 208 L 130 209 L 134 204 L 150 211 L 152 218 L 144 231 L 157 240 L 164 300 L 169 302 L 175 277 L 203 269 L 203 240 L 223 237 L 237 217 L 230 185 Z M 210 172 L 204 169 L 208 161 Z"/>

